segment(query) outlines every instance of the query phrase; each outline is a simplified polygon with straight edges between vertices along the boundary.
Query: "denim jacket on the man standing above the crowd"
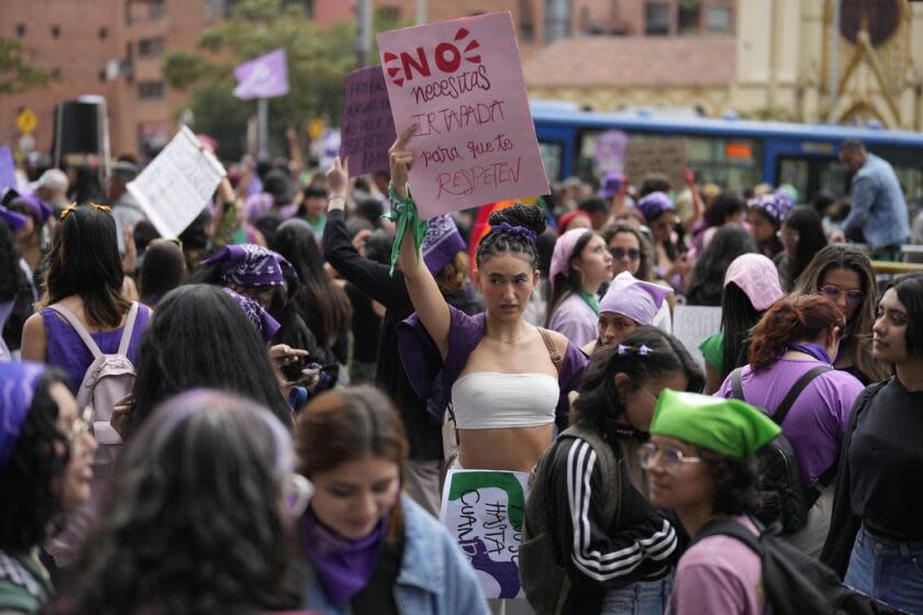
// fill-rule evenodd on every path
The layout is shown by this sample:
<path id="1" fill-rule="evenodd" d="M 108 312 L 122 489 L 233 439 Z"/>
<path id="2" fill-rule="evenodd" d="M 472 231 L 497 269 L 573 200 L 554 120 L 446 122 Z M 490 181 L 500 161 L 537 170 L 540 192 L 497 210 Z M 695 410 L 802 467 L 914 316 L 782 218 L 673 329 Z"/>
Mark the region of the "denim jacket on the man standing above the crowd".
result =
<path id="1" fill-rule="evenodd" d="M 894 246 L 910 238 L 910 213 L 894 169 L 886 160 L 868 154 L 853 176 L 853 208 L 843 230 L 861 231 L 871 249 Z"/>

